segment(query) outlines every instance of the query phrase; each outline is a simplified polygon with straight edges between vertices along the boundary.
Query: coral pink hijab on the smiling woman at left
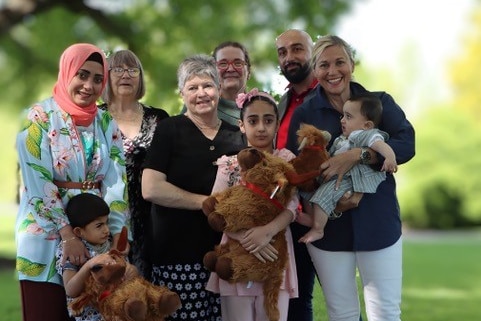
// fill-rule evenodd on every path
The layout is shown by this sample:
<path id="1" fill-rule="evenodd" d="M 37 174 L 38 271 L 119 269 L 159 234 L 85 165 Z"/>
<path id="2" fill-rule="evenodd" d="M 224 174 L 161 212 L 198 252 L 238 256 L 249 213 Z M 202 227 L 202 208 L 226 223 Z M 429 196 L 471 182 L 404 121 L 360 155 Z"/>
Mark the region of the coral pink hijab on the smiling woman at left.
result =
<path id="1" fill-rule="evenodd" d="M 80 107 L 72 101 L 72 98 L 67 91 L 68 85 L 75 77 L 80 67 L 82 67 L 87 58 L 95 52 L 98 52 L 102 57 L 104 68 L 104 80 L 102 82 L 103 91 L 105 84 L 107 83 L 108 70 L 107 61 L 102 50 L 88 43 L 78 43 L 65 49 L 60 57 L 58 79 L 53 87 L 53 97 L 60 108 L 72 116 L 75 125 L 88 126 L 94 121 L 95 116 L 97 115 L 96 102 L 87 107 Z"/>

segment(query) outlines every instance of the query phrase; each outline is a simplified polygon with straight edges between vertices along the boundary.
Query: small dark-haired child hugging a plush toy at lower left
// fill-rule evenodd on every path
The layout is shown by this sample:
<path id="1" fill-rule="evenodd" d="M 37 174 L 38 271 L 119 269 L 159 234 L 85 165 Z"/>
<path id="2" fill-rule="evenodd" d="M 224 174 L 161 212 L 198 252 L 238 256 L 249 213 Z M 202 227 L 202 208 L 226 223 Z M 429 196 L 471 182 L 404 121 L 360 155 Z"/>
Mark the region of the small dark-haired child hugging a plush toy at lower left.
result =
<path id="1" fill-rule="evenodd" d="M 85 264 L 71 262 L 69 258 L 63 260 L 63 246 L 70 240 L 62 241 L 57 247 L 57 271 L 62 275 L 67 302 L 79 296 L 90 275 L 90 270 L 96 264 L 98 254 L 107 253 L 111 248 L 111 234 L 108 226 L 110 209 L 105 201 L 94 194 L 82 193 L 72 197 L 65 209 L 73 228 L 73 233 L 85 244 L 91 259 Z M 63 263 L 65 262 L 65 263 Z M 137 275 L 137 269 L 127 264 L 125 277 Z M 83 311 L 76 321 L 103 321 L 100 313 L 91 306 Z"/>

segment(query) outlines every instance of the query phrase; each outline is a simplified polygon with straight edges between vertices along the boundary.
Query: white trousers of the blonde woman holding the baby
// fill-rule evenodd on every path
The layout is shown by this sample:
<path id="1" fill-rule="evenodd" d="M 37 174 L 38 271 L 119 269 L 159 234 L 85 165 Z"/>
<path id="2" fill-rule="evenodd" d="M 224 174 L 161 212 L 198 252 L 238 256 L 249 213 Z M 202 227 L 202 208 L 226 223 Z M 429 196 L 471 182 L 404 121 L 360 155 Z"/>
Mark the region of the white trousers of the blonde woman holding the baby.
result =
<path id="1" fill-rule="evenodd" d="M 359 270 L 368 321 L 401 320 L 402 239 L 378 251 L 331 252 L 307 244 L 329 321 L 359 321 Z"/>

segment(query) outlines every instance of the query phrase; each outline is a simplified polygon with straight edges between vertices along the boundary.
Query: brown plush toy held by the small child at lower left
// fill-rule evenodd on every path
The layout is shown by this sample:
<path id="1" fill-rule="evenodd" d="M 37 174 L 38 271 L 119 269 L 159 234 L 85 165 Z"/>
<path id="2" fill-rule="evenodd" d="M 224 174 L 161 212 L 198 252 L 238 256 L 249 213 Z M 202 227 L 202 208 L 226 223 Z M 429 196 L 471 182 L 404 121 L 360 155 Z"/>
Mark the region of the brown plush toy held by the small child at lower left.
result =
<path id="1" fill-rule="evenodd" d="M 124 228 L 117 250 L 100 254 L 101 263 L 90 271 L 84 292 L 69 303 L 74 315 L 91 305 L 107 321 L 163 321 L 180 307 L 179 296 L 167 287 L 138 275 L 126 276 L 127 262 L 120 253 L 127 243 L 126 232 Z"/>

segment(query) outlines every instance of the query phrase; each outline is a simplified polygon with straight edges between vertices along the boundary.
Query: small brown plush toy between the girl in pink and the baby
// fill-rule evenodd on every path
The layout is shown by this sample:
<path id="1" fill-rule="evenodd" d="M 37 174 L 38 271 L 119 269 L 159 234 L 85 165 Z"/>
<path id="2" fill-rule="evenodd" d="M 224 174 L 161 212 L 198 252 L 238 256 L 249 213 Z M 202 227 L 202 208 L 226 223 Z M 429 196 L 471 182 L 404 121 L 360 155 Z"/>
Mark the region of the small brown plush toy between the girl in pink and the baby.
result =
<path id="1" fill-rule="evenodd" d="M 320 174 L 321 164 L 329 158 L 326 147 L 331 140 L 331 134 L 309 124 L 301 124 L 296 134 L 300 153 L 290 163 L 298 174 L 315 170 L 318 170 Z M 319 182 L 316 178 L 297 186 L 303 192 L 313 192 L 318 187 Z"/>

